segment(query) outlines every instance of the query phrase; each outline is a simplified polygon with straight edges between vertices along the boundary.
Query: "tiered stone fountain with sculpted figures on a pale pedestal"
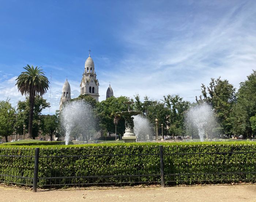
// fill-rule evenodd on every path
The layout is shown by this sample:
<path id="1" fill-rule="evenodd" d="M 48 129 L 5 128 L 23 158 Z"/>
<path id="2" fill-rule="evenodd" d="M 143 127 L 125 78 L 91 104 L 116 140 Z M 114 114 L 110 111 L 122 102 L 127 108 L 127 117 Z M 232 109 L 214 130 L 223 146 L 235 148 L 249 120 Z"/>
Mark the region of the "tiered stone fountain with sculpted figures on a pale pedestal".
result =
<path id="1" fill-rule="evenodd" d="M 124 103 L 128 105 L 128 111 L 116 112 L 117 115 L 119 114 L 121 116 L 124 116 L 124 120 L 125 120 L 125 133 L 122 139 L 124 140 L 124 142 L 136 142 L 136 135 L 134 133 L 134 122 L 133 122 L 134 117 L 132 116 L 136 116 L 140 114 L 140 112 L 130 110 L 130 105 L 133 104 L 133 102 L 131 102 L 130 99 L 128 102 L 124 102 Z"/>

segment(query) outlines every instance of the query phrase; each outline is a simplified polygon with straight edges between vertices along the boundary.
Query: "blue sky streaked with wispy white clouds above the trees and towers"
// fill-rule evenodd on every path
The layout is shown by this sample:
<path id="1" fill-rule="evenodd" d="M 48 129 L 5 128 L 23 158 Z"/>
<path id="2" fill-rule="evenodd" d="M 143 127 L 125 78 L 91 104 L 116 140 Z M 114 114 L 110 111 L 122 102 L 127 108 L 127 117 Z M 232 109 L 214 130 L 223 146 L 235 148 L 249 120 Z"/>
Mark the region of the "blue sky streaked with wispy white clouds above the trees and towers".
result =
<path id="1" fill-rule="evenodd" d="M 99 100 L 179 94 L 194 102 L 201 83 L 235 87 L 256 69 L 256 1 L 0 0 L 0 100 L 23 100 L 15 79 L 27 64 L 52 72 L 50 113 L 66 76 L 79 95 L 91 49 Z M 44 111 L 49 113 L 49 110 Z"/>

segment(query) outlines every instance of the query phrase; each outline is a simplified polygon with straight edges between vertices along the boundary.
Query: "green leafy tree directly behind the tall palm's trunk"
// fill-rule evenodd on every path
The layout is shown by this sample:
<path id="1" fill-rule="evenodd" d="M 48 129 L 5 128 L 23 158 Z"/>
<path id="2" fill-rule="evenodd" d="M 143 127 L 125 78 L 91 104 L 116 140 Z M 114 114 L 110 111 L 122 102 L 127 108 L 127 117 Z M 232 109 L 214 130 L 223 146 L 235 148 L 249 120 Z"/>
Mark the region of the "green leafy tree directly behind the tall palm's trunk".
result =
<path id="1" fill-rule="evenodd" d="M 34 107 L 33 107 L 33 127 L 32 127 L 32 138 L 38 136 L 40 130 L 40 119 L 42 115 L 42 110 L 50 107 L 50 103 L 41 96 L 35 96 Z M 30 100 L 26 97 L 26 100 L 19 101 L 17 106 L 17 118 L 15 123 L 16 132 L 20 135 L 23 134 L 23 125 L 26 125 L 26 129 L 29 124 L 29 114 L 30 114 Z"/>

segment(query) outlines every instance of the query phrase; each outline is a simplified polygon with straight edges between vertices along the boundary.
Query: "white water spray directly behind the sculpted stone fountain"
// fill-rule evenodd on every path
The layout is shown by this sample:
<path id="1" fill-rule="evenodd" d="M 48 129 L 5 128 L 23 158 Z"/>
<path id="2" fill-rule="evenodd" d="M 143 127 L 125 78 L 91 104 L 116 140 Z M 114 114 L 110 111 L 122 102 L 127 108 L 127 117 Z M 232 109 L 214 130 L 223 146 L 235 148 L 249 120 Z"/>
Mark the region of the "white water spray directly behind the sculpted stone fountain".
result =
<path id="1" fill-rule="evenodd" d="M 153 130 L 148 120 L 142 115 L 133 116 L 134 133 L 138 140 L 152 140 Z"/>

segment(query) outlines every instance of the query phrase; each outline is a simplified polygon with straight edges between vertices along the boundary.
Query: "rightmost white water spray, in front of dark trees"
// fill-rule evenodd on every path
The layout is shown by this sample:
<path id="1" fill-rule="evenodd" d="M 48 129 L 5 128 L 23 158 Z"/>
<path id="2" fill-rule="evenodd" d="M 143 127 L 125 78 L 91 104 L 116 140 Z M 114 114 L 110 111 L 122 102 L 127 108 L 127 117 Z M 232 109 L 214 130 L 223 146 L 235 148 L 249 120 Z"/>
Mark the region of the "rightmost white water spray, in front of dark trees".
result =
<path id="1" fill-rule="evenodd" d="M 212 129 L 216 126 L 213 109 L 206 103 L 191 107 L 186 114 L 186 123 L 187 128 L 198 132 L 201 142 L 204 141 L 204 135 L 209 139 Z"/>

